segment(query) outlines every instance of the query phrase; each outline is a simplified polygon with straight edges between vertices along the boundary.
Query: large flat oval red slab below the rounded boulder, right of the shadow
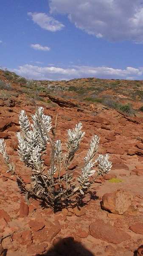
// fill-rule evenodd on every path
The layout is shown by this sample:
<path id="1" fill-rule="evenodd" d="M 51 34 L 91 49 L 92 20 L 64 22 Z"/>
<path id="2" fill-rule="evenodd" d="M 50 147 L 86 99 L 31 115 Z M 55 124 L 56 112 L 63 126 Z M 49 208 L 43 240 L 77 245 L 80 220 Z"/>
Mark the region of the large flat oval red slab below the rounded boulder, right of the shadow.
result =
<path id="1" fill-rule="evenodd" d="M 112 227 L 109 223 L 105 224 L 100 219 L 90 224 L 90 235 L 112 244 L 120 244 L 131 238 L 123 230 Z"/>

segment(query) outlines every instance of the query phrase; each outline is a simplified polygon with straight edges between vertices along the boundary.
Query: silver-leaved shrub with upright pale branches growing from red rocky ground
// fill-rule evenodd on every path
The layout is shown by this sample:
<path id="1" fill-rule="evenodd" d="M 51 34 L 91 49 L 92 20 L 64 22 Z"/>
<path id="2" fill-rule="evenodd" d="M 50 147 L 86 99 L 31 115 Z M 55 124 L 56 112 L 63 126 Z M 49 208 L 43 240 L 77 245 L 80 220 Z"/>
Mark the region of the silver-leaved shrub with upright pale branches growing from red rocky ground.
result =
<path id="1" fill-rule="evenodd" d="M 81 122 L 73 130 L 69 129 L 67 131 L 68 139 L 65 143 L 65 154 L 62 152 L 61 140 L 55 141 L 56 123 L 53 129 L 51 117 L 45 115 L 44 108 L 38 108 L 36 104 L 35 107 L 36 113 L 31 115 L 33 123 L 29 121 L 24 110 L 20 112 L 21 132 L 17 133 L 20 160 L 25 166 L 31 167 L 30 188 L 16 174 L 14 163 L 11 162 L 6 152 L 4 140 L 0 140 L 0 153 L 3 154 L 4 162 L 8 166 L 8 172 L 16 175 L 17 181 L 24 189 L 25 199 L 28 203 L 28 197 L 33 195 L 51 206 L 56 205 L 57 202 L 64 204 L 68 198 L 73 197 L 76 193 L 84 195 L 98 175 L 104 175 L 109 172 L 112 163 L 108 161 L 108 154 L 99 154 L 98 157 L 95 157 L 100 138 L 94 135 L 90 140 L 87 156 L 84 157 L 84 166 L 81 168 L 81 174 L 78 177 L 73 177 L 73 171 L 69 167 L 78 157 L 75 157 L 75 153 L 79 149 L 80 142 L 85 134 L 85 132 L 81 131 Z M 49 156 L 51 165 L 50 169 L 47 169 L 42 156 L 46 153 L 46 147 L 49 143 L 51 147 L 51 156 Z"/>

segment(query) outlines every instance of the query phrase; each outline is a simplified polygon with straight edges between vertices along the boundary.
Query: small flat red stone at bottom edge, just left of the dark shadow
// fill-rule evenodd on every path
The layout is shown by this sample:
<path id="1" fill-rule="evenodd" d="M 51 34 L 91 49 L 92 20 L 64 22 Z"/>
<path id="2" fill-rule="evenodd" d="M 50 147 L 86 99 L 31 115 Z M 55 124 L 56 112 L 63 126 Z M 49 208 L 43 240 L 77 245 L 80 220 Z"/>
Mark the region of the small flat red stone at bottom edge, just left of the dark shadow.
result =
<path id="1" fill-rule="evenodd" d="M 27 250 L 26 253 L 44 253 L 45 252 L 45 248 L 48 246 L 47 243 L 42 243 L 42 244 L 28 244 L 27 245 Z"/>

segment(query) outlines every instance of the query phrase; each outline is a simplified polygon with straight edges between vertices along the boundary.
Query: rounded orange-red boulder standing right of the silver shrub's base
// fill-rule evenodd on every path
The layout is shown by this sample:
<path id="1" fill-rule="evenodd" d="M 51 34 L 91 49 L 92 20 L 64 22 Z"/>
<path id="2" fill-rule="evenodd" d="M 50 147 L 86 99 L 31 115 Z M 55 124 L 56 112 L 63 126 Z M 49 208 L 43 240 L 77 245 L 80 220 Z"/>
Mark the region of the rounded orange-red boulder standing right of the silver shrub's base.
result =
<path id="1" fill-rule="evenodd" d="M 131 195 L 118 189 L 113 193 L 106 193 L 102 197 L 102 208 L 116 214 L 123 214 L 132 202 Z"/>

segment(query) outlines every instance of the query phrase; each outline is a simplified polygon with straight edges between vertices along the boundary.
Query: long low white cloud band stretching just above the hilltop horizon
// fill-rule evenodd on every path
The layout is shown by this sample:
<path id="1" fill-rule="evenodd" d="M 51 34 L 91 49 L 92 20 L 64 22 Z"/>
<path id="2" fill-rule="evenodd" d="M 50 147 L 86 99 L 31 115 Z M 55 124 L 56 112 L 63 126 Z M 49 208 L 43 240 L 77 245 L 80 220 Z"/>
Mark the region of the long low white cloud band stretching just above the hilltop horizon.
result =
<path id="1" fill-rule="evenodd" d="M 38 67 L 26 64 L 18 69 L 9 69 L 20 76 L 28 76 L 37 80 L 70 80 L 74 78 L 96 77 L 101 79 L 143 79 L 143 67 L 127 67 L 125 70 L 114 69 L 111 67 L 90 67 L 90 66 L 70 66 L 61 67 Z"/>

